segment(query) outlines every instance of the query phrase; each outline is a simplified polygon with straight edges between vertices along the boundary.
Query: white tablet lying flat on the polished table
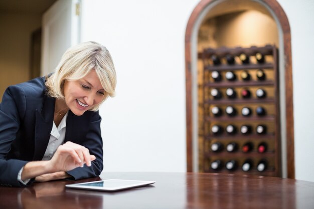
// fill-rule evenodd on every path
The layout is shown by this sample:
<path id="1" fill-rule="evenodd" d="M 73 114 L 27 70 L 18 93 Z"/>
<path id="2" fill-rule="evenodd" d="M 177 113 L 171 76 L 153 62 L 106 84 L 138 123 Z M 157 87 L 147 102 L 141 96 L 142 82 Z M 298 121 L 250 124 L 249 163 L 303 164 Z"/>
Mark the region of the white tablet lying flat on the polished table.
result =
<path id="1" fill-rule="evenodd" d="M 145 186 L 154 183 L 155 181 L 139 181 L 139 180 L 122 180 L 122 179 L 107 179 L 100 181 L 91 181 L 85 183 L 74 183 L 65 185 L 68 188 L 89 189 L 98 191 L 118 191 L 127 188 Z"/>

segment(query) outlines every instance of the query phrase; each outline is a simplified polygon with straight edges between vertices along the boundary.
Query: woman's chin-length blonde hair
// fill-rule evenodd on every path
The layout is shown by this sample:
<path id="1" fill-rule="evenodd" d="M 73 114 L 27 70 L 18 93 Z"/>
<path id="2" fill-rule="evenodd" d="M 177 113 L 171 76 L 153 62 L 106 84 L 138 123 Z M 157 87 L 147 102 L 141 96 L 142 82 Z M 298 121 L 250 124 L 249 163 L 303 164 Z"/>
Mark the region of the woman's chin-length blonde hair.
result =
<path id="1" fill-rule="evenodd" d="M 85 42 L 69 48 L 61 58 L 55 72 L 46 76 L 47 93 L 51 97 L 64 99 L 63 84 L 66 80 L 79 80 L 91 70 L 95 70 L 104 88 L 104 102 L 113 97 L 116 73 L 109 51 L 96 42 Z M 101 104 L 100 103 L 100 104 Z M 97 111 L 100 104 L 92 108 Z"/>

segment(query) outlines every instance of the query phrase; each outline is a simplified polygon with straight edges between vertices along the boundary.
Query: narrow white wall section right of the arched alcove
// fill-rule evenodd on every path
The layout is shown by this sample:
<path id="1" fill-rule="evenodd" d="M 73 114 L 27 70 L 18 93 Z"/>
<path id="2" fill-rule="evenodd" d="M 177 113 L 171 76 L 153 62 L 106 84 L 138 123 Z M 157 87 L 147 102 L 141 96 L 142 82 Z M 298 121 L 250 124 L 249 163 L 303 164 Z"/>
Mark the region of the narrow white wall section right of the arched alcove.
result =
<path id="1" fill-rule="evenodd" d="M 314 181 L 314 1 L 278 2 L 291 30 L 295 178 Z"/>

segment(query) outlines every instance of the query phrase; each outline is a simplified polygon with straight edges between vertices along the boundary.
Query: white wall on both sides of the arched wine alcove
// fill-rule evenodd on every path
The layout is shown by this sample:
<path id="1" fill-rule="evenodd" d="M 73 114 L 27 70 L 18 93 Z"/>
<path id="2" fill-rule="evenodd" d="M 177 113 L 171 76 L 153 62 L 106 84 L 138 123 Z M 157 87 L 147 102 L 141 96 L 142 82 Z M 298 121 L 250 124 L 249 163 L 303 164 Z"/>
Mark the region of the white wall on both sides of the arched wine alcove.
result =
<path id="1" fill-rule="evenodd" d="M 296 178 L 314 181 L 314 2 L 278 0 L 291 28 Z M 184 38 L 198 0 L 83 0 L 82 41 L 114 59 L 103 116 L 104 171 L 186 171 Z"/>

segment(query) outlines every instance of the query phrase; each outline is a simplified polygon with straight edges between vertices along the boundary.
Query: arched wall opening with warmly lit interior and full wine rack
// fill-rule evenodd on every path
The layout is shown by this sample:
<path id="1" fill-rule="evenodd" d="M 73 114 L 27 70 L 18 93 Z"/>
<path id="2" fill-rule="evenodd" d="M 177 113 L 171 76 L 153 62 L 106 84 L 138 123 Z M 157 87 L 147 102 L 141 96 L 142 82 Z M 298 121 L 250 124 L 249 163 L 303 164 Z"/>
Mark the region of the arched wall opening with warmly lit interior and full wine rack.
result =
<path id="1" fill-rule="evenodd" d="M 188 171 L 194 163 L 193 171 L 284 177 L 281 129 L 286 127 L 281 128 L 285 119 L 280 113 L 285 108 L 279 104 L 292 101 L 281 101 L 285 89 L 280 81 L 285 83 L 286 75 L 279 70 L 282 47 L 273 14 L 252 0 L 204 0 L 195 9 L 199 14 L 206 8 L 203 2 L 212 6 L 201 20 L 193 19 L 199 21 L 196 46 L 186 39 L 187 75 L 193 68 L 187 49 L 197 50 L 195 80 L 187 77 Z M 191 31 L 188 24 L 186 37 Z M 194 82 L 197 97 L 188 89 Z M 189 128 L 192 118 L 197 118 L 197 129 Z"/>

